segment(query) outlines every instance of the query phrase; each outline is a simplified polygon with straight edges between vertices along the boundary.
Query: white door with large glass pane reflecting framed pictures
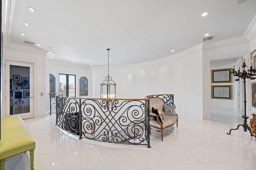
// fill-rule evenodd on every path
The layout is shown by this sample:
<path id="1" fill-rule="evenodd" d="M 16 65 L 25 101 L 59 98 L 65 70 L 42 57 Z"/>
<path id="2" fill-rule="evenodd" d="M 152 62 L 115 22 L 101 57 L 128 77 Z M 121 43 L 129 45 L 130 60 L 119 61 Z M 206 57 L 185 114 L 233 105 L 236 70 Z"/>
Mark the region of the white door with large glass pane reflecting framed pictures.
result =
<path id="1" fill-rule="evenodd" d="M 33 63 L 5 60 L 5 115 L 34 116 Z"/>

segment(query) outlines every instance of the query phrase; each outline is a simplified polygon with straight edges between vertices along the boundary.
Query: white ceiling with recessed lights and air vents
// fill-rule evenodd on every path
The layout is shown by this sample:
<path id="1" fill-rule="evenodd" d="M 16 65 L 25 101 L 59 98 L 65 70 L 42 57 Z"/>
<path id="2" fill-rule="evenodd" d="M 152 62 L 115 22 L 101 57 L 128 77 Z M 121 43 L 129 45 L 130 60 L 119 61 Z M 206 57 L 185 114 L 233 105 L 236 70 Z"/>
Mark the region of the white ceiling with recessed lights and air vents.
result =
<path id="1" fill-rule="evenodd" d="M 178 53 L 206 33 L 214 41 L 243 36 L 255 14 L 256 0 L 16 0 L 10 42 L 86 66 L 107 65 L 110 48 L 110 65 L 124 65 Z"/>

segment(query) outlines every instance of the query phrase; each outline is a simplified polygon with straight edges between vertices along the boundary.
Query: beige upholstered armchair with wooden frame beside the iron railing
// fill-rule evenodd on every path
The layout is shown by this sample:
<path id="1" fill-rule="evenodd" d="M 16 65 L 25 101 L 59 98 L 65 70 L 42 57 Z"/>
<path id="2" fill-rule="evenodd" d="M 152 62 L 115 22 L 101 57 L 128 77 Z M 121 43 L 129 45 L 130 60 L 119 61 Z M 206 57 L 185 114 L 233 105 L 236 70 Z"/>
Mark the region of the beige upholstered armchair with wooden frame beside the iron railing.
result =
<path id="1" fill-rule="evenodd" d="M 149 99 L 150 132 L 151 127 L 161 130 L 163 141 L 164 128 L 171 127 L 175 123 L 178 127 L 178 115 L 175 113 L 175 105 L 165 105 L 164 100 L 159 97 Z"/>

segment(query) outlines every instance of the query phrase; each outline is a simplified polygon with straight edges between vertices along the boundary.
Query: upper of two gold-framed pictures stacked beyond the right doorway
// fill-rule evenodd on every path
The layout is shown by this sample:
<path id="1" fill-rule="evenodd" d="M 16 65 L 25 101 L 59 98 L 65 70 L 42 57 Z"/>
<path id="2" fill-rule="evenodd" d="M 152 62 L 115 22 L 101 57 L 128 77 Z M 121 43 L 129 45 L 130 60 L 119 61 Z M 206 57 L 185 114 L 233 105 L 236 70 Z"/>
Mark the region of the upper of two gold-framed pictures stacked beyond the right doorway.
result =
<path id="1" fill-rule="evenodd" d="M 214 69 L 212 72 L 212 83 L 232 83 L 232 68 Z"/>

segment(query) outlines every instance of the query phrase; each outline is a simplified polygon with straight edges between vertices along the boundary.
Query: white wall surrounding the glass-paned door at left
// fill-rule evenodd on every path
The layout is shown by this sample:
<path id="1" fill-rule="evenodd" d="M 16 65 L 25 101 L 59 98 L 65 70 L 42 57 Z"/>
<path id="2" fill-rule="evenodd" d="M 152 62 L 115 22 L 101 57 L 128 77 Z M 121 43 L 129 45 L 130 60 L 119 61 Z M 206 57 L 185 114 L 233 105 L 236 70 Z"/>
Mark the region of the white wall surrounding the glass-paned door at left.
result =
<path id="1" fill-rule="evenodd" d="M 46 116 L 46 53 L 47 51 L 25 47 L 15 44 L 4 44 L 3 47 L 3 62 L 5 60 L 21 61 L 34 64 L 34 117 Z M 3 80 L 9 79 L 5 77 L 5 70 L 3 68 Z M 6 80 L 6 82 L 9 82 Z M 5 86 L 3 86 L 5 91 Z M 44 93 L 44 96 L 40 96 L 40 93 Z M 4 93 L 3 93 L 4 95 Z M 3 96 L 2 99 L 5 97 Z M 5 106 L 5 101 L 3 101 Z M 5 114 L 2 114 L 4 116 Z"/>

